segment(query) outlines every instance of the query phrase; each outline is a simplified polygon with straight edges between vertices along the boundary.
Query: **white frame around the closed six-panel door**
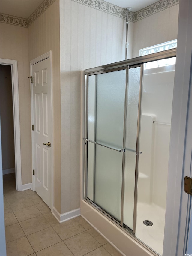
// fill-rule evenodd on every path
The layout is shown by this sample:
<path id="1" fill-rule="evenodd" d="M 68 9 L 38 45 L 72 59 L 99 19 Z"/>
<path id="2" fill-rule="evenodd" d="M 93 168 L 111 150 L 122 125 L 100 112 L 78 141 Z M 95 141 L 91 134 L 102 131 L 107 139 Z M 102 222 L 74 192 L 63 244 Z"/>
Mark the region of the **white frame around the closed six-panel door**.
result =
<path id="1" fill-rule="evenodd" d="M 33 59 L 30 61 L 30 76 L 32 76 L 32 65 L 40 62 L 44 59 L 49 58 L 50 61 L 50 85 L 51 85 L 51 106 L 52 106 L 52 51 L 49 51 L 47 53 L 44 53 L 43 55 Z M 33 119 L 33 85 L 31 83 L 31 122 L 32 125 L 34 124 L 34 119 Z M 51 120 L 53 120 L 53 110 L 51 107 Z M 53 209 L 53 147 L 54 147 L 54 142 L 53 142 L 53 124 L 51 122 L 51 212 Z M 34 156 L 34 132 L 32 131 L 32 169 L 35 167 L 35 156 Z M 32 174 L 32 190 L 35 191 L 35 175 Z"/>

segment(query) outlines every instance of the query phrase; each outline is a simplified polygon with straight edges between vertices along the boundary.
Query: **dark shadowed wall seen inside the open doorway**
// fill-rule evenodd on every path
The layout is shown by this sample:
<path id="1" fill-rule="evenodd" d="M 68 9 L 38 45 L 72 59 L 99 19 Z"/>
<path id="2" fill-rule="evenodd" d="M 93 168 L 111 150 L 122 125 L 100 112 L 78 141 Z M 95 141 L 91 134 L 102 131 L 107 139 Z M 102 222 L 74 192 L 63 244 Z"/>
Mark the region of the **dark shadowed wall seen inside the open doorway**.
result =
<path id="1" fill-rule="evenodd" d="M 0 65 L 0 112 L 3 170 L 15 168 L 11 67 Z"/>

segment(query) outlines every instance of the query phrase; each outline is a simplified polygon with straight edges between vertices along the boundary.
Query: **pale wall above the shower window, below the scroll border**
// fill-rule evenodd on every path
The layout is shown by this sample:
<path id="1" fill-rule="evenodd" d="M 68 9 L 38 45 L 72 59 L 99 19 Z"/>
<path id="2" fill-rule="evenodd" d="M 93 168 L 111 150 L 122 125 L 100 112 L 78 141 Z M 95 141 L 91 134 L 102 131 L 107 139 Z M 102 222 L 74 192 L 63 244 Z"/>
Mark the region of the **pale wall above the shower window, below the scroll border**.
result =
<path id="1" fill-rule="evenodd" d="M 179 5 L 150 15 L 134 23 L 133 58 L 139 50 L 177 39 Z"/>

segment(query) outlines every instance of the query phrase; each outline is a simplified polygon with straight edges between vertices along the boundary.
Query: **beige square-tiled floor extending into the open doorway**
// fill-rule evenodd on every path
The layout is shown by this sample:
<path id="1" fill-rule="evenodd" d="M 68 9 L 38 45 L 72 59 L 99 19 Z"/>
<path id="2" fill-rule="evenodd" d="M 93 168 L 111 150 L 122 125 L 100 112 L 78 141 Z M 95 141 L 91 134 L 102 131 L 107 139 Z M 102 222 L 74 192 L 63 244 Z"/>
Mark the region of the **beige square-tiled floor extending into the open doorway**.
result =
<path id="1" fill-rule="evenodd" d="M 81 216 L 59 224 L 36 192 L 15 190 L 13 174 L 3 186 L 7 256 L 121 255 Z"/>

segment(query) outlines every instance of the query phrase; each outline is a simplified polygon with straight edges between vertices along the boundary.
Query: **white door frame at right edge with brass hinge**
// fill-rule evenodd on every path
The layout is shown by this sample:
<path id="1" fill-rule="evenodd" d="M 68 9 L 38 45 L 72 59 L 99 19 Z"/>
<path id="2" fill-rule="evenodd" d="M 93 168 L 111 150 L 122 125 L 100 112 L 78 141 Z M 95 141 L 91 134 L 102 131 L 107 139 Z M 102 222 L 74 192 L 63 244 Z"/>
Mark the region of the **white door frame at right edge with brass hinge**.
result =
<path id="1" fill-rule="evenodd" d="M 191 0 L 180 0 L 163 249 L 165 256 L 184 255 L 187 245 L 190 196 L 183 191 L 183 186 L 184 176 L 191 175 L 191 12 Z"/>

